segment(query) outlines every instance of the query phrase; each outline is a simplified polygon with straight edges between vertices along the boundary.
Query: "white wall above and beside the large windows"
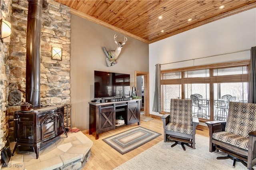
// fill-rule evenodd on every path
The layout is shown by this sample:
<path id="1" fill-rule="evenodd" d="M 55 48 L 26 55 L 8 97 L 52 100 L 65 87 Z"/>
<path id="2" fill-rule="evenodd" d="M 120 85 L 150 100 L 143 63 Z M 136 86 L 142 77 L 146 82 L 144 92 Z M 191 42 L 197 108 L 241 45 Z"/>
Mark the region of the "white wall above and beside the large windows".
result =
<path id="1" fill-rule="evenodd" d="M 250 59 L 250 51 L 219 55 L 250 49 L 256 46 L 256 8 L 211 22 L 149 45 L 150 114 L 153 112 L 155 64 L 208 57 L 174 64 L 161 65 L 172 69 Z"/>

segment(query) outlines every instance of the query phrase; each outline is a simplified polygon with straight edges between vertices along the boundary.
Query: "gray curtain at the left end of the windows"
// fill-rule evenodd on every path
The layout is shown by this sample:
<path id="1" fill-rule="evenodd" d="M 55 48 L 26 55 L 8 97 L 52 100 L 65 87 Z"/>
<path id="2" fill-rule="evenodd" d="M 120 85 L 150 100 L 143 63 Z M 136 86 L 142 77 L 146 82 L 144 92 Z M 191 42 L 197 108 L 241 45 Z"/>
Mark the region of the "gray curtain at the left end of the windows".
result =
<path id="1" fill-rule="evenodd" d="M 156 64 L 153 111 L 161 112 L 161 64 Z"/>

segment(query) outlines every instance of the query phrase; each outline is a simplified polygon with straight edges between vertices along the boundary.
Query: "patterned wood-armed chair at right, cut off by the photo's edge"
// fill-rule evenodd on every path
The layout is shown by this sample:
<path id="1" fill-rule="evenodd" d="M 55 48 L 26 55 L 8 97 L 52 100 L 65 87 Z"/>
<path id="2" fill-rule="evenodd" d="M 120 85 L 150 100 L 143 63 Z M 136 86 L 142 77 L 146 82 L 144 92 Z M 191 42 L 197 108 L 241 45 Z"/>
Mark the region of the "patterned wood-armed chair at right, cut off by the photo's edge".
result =
<path id="1" fill-rule="evenodd" d="M 217 159 L 242 162 L 248 169 L 256 165 L 256 104 L 230 102 L 227 121 L 206 122 L 210 152 L 226 153 Z"/>

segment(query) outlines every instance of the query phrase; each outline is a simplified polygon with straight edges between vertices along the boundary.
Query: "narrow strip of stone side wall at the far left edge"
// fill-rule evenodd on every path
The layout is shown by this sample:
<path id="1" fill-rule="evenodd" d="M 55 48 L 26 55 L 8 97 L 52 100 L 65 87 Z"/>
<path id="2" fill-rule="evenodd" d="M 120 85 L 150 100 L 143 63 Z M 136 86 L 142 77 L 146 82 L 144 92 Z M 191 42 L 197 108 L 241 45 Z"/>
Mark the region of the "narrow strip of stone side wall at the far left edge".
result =
<path id="1" fill-rule="evenodd" d="M 0 1 L 0 19 L 10 22 L 11 1 Z M 9 43 L 0 42 L 0 150 L 4 148 L 7 143 L 8 136 L 8 122 L 6 121 L 6 106 L 8 105 L 8 84 L 9 84 L 9 70 L 7 64 L 7 57 L 9 55 L 8 50 Z M 1 158 L 1 155 L 0 155 Z"/>

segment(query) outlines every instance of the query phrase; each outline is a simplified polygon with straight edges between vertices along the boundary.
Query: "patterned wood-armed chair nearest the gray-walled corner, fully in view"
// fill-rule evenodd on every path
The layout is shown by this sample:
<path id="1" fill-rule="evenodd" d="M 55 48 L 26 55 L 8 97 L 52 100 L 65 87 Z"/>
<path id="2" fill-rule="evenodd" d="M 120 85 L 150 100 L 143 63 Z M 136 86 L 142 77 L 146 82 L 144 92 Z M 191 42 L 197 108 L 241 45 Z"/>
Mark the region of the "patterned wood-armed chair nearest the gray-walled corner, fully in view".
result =
<path id="1" fill-rule="evenodd" d="M 170 114 L 161 117 L 164 124 L 164 142 L 175 142 L 171 147 L 184 144 L 195 149 L 195 134 L 198 118 L 192 117 L 192 101 L 171 99 Z"/>

